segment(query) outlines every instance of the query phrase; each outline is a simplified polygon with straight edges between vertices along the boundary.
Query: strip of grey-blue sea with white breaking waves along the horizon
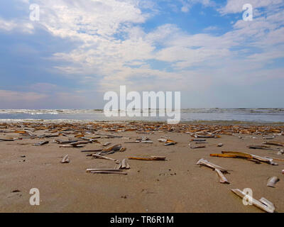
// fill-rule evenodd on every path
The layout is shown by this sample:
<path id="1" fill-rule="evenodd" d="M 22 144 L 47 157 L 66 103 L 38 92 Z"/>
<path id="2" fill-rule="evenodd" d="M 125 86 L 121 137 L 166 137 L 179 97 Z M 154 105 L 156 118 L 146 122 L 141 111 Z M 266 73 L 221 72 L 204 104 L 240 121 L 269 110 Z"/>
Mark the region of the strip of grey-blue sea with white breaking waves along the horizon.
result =
<path id="1" fill-rule="evenodd" d="M 136 110 L 148 112 L 148 117 L 107 117 L 103 110 L 94 109 L 0 109 L 1 121 L 18 120 L 81 120 L 81 121 L 166 121 L 164 110 Z M 165 116 L 160 116 L 160 114 Z M 156 116 L 150 116 L 156 114 Z M 142 115 L 142 114 L 141 114 Z M 192 121 L 241 121 L 256 123 L 283 123 L 284 108 L 278 109 L 182 109 L 181 122 Z"/>

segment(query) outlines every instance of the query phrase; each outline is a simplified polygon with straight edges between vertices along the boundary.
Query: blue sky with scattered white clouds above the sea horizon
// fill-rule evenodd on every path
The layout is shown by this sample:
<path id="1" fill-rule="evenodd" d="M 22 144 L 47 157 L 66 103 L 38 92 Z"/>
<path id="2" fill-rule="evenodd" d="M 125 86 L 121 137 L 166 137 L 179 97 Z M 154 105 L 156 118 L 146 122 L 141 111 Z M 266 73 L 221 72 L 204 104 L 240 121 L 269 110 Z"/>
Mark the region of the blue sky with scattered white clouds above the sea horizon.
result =
<path id="1" fill-rule="evenodd" d="M 0 75 L 0 109 L 103 109 L 120 85 L 283 108 L 284 0 L 1 0 Z"/>

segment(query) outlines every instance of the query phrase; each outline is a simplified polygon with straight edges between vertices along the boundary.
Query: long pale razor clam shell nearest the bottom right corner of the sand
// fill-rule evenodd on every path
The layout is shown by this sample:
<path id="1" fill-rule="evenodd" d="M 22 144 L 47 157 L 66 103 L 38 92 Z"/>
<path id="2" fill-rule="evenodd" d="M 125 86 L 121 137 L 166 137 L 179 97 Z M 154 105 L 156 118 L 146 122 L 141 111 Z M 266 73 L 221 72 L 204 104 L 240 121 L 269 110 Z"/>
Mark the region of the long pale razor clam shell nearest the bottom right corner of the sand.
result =
<path id="1" fill-rule="evenodd" d="M 249 194 L 246 194 L 245 192 L 242 192 L 240 189 L 231 189 L 231 192 L 234 192 L 234 194 L 241 197 L 241 199 L 243 199 L 246 196 L 246 199 L 251 201 L 253 206 L 258 207 L 258 209 L 261 209 L 268 213 L 274 213 L 275 211 L 275 206 L 273 205 L 273 203 L 271 203 L 271 201 L 268 201 L 267 199 L 263 197 L 259 200 L 253 199 L 252 196 L 250 196 Z"/>

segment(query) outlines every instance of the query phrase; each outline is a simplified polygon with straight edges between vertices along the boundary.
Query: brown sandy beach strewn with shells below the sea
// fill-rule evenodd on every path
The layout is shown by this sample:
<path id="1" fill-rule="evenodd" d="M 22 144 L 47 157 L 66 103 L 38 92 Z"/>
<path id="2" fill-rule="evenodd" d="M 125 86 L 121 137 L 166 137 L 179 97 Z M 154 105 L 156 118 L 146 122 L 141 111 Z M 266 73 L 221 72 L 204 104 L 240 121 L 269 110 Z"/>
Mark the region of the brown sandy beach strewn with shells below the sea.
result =
<path id="1" fill-rule="evenodd" d="M 284 143 L 283 126 L 202 126 L 159 123 L 1 123 L 0 142 L 0 212 L 263 212 L 256 206 L 244 206 L 231 189 L 251 188 L 253 198 L 265 197 L 284 212 L 283 147 L 273 150 L 250 149 L 265 141 Z M 29 134 L 28 134 L 29 133 Z M 38 138 L 38 135 L 42 138 Z M 44 138 L 44 135 L 55 137 Z M 77 135 L 77 137 L 75 137 Z M 107 136 L 106 136 L 107 135 Z M 110 135 L 121 136 L 111 138 Z M 195 135 L 217 135 L 196 144 Z M 81 136 L 81 137 L 80 137 Z M 86 140 L 84 148 L 60 148 L 55 140 Z M 274 138 L 269 138 L 273 136 Z M 153 143 L 126 143 L 147 137 Z M 265 138 L 263 138 L 265 137 Z M 165 146 L 160 138 L 177 142 Z M 269 139 L 267 139 L 269 138 Z M 42 146 L 35 143 L 48 140 Z M 82 150 L 105 148 L 104 143 L 119 143 L 124 152 L 105 155 L 115 160 L 128 157 L 165 156 L 165 161 L 129 160 L 127 175 L 92 174 L 88 168 L 114 168 L 111 160 L 86 156 Z M 222 143 L 222 147 L 217 144 Z M 205 145 L 190 148 L 189 144 Z M 241 158 L 211 157 L 222 151 L 239 151 L 273 162 L 251 162 Z M 69 163 L 61 163 L 69 155 Z M 215 171 L 196 165 L 200 158 L 224 167 L 230 184 L 221 184 Z M 277 160 L 278 159 L 278 160 Z M 267 187 L 269 177 L 280 181 Z M 40 191 L 40 205 L 31 206 L 30 189 Z"/>

